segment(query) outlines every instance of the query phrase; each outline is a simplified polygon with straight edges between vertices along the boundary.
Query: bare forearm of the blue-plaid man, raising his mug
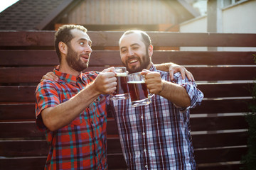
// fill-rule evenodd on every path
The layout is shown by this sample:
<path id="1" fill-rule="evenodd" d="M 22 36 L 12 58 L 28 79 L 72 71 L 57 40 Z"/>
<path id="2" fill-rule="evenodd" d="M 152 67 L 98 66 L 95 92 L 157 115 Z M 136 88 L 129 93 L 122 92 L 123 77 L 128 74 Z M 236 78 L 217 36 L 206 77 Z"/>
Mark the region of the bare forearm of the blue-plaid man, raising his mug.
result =
<path id="1" fill-rule="evenodd" d="M 160 96 L 168 99 L 176 106 L 188 107 L 190 106 L 190 98 L 186 89 L 183 86 L 174 84 L 168 81 L 162 80 L 162 91 L 159 93 Z"/>

